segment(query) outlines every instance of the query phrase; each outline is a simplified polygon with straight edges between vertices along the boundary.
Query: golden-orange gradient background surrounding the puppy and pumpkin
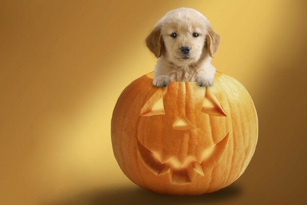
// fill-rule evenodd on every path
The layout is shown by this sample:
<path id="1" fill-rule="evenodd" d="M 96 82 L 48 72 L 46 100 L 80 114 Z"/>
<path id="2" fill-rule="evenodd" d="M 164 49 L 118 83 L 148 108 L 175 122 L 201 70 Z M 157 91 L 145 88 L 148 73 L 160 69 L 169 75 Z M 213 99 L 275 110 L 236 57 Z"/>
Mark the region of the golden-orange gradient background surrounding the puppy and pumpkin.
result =
<path id="1" fill-rule="evenodd" d="M 254 100 L 259 139 L 230 187 L 161 196 L 121 172 L 111 117 L 153 71 L 145 38 L 167 11 L 202 12 L 212 60 Z M 302 204 L 307 142 L 306 1 L 1 1 L 0 204 Z"/>

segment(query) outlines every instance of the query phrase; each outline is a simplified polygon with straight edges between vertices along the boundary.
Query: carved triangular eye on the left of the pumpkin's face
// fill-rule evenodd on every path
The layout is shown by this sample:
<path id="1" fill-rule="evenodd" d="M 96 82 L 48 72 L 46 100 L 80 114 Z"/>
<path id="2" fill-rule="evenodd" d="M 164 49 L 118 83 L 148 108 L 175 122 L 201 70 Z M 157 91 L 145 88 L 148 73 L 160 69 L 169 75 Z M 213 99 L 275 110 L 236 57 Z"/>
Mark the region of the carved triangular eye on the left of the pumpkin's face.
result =
<path id="1" fill-rule="evenodd" d="M 141 116 L 152 116 L 152 115 L 163 115 L 164 105 L 163 105 L 163 95 L 162 89 L 159 88 L 145 103 L 141 109 Z"/>

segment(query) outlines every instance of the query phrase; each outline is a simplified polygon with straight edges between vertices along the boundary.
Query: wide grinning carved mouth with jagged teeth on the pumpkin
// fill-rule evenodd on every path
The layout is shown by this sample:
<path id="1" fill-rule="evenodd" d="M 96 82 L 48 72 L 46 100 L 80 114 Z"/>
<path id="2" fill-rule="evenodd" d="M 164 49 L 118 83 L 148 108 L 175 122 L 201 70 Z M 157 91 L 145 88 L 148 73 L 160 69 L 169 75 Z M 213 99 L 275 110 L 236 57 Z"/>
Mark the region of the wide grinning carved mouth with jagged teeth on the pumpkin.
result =
<path id="1" fill-rule="evenodd" d="M 220 160 L 221 155 L 225 150 L 228 136 L 229 132 L 221 141 L 217 142 L 217 144 L 204 150 L 201 161 L 196 161 L 195 157 L 189 156 L 182 164 L 176 159 L 176 157 L 172 157 L 166 162 L 161 163 L 160 155 L 146 148 L 138 138 L 137 144 L 139 155 L 150 171 L 155 173 L 157 176 L 168 174 L 170 183 L 183 185 L 190 183 L 195 175 L 199 174 L 205 176 L 204 167 L 209 169 Z"/>

